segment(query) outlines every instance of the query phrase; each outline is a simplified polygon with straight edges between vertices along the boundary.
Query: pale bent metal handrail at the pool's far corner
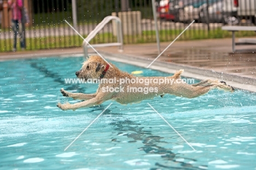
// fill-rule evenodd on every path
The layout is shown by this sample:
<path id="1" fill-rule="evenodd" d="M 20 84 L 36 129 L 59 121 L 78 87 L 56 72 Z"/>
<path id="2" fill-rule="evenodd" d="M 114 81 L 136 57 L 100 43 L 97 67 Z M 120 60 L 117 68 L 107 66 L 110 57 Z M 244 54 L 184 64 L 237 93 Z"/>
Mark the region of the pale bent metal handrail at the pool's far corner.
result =
<path id="1" fill-rule="evenodd" d="M 88 56 L 88 48 L 91 46 L 88 46 L 88 43 L 92 38 L 96 36 L 96 34 L 101 31 L 101 29 L 111 20 L 115 20 L 117 22 L 117 43 L 102 43 L 102 44 L 93 44 L 94 46 L 119 46 L 119 50 L 123 51 L 123 32 L 121 27 L 121 20 L 117 16 L 106 16 L 104 19 L 98 24 L 94 30 L 92 30 L 89 35 L 84 39 L 83 41 L 83 48 L 84 48 L 84 57 L 86 58 Z"/>

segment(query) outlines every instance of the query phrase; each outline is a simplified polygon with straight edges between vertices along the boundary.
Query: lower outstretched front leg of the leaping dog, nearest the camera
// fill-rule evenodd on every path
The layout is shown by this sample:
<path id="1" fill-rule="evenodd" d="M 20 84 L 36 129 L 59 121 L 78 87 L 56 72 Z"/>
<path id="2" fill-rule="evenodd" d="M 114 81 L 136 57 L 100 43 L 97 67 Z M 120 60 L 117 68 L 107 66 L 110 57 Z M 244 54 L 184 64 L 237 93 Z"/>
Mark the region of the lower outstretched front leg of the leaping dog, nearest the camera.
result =
<path id="1" fill-rule="evenodd" d="M 95 98 L 89 99 L 88 101 L 78 102 L 78 103 L 75 103 L 75 104 L 70 104 L 70 103 L 61 104 L 61 103 L 58 103 L 57 107 L 59 107 L 62 110 L 70 110 L 70 109 L 75 110 L 75 109 L 78 109 L 78 108 L 92 107 L 92 106 L 95 106 L 95 105 L 100 105 L 103 101 L 104 101 L 103 99 L 101 99 L 99 97 L 95 97 Z"/>

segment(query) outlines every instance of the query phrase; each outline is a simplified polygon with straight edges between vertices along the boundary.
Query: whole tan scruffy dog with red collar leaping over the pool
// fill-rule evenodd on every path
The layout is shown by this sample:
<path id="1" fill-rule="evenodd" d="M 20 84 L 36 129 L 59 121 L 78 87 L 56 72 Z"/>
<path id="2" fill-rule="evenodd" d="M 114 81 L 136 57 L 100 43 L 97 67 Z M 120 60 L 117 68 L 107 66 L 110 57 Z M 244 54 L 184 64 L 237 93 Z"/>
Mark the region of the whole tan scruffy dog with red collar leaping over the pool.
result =
<path id="1" fill-rule="evenodd" d="M 71 93 L 61 89 L 65 97 L 83 100 L 75 104 L 58 103 L 57 107 L 62 110 L 78 109 L 99 105 L 104 101 L 112 99 L 121 104 L 136 103 L 144 99 L 152 99 L 156 96 L 163 97 L 165 94 L 176 95 L 187 98 L 201 96 L 211 89 L 223 89 L 233 92 L 233 87 L 226 85 L 224 81 L 203 80 L 200 83 L 189 85 L 181 80 L 183 70 L 177 71 L 171 77 L 135 77 L 129 73 L 120 71 L 112 63 L 108 63 L 100 56 L 90 56 L 83 63 L 82 69 L 75 72 L 79 79 L 89 80 L 108 80 L 98 85 L 97 92 L 94 94 Z M 115 82 L 113 83 L 113 80 Z M 170 82 L 166 80 L 169 79 Z M 112 80 L 112 81 L 110 81 Z M 158 81 L 159 80 L 159 81 Z M 165 80 L 165 83 L 162 81 Z M 161 83 L 160 83 L 161 81 Z M 144 83 L 142 83 L 144 82 Z M 172 83 L 171 83 L 172 82 Z"/>

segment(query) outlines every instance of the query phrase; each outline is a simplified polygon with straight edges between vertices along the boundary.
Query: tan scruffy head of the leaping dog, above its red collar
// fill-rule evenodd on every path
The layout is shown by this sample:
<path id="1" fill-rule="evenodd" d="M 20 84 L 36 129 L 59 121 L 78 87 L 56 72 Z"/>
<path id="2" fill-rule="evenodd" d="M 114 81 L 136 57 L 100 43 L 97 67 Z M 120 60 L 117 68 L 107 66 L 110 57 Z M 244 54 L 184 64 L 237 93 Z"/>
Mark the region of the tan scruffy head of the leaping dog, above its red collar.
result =
<path id="1" fill-rule="evenodd" d="M 107 62 L 100 56 L 90 56 L 87 61 L 83 63 L 80 71 L 75 72 L 79 79 L 97 79 L 107 66 Z"/>

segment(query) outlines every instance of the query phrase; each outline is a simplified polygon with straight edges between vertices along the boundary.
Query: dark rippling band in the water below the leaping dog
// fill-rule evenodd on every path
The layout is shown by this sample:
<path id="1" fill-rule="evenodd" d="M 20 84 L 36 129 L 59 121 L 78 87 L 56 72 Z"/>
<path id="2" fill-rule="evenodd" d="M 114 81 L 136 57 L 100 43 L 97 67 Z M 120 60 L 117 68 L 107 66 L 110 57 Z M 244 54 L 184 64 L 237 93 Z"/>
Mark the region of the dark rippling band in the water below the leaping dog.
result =
<path id="1" fill-rule="evenodd" d="M 102 111 L 107 107 L 107 104 L 101 104 L 98 107 L 94 107 L 93 110 L 90 110 L 89 112 L 96 112 L 96 111 Z M 106 109 L 104 112 L 104 116 L 115 118 L 118 117 L 118 119 L 121 119 L 121 117 L 124 114 L 120 113 L 113 113 L 112 110 Z M 198 167 L 193 166 L 191 163 L 186 163 L 183 161 L 179 161 L 177 159 L 185 159 L 188 161 L 194 161 L 195 159 L 187 158 L 187 157 L 181 157 L 179 154 L 174 154 L 171 149 L 164 148 L 160 146 L 162 143 L 167 143 L 165 141 L 162 141 L 161 139 L 164 139 L 164 137 L 153 135 L 152 131 L 144 130 L 144 127 L 141 127 L 141 124 L 138 124 L 131 120 L 118 120 L 113 119 L 112 122 L 109 124 L 113 126 L 113 129 L 115 131 L 118 131 L 116 136 L 118 137 L 119 134 L 123 134 L 123 136 L 127 136 L 127 138 L 131 138 L 128 143 L 135 143 L 137 141 L 142 141 L 143 146 L 138 148 L 139 150 L 143 150 L 146 154 L 159 154 L 161 155 L 161 158 L 165 160 L 166 163 L 159 163 L 155 162 L 154 168 L 150 168 L 150 170 L 159 169 L 159 168 L 165 168 L 165 169 L 207 169 L 207 165 L 200 165 Z M 126 133 L 129 132 L 129 133 Z M 125 134 L 126 133 L 126 134 Z M 170 137 L 169 137 L 170 138 Z M 179 138 L 178 136 L 173 136 L 172 138 Z M 112 142 L 120 142 L 118 138 L 112 138 Z M 179 167 L 174 167 L 168 165 L 168 161 L 177 163 Z M 173 163 L 172 163 L 173 165 Z"/>

